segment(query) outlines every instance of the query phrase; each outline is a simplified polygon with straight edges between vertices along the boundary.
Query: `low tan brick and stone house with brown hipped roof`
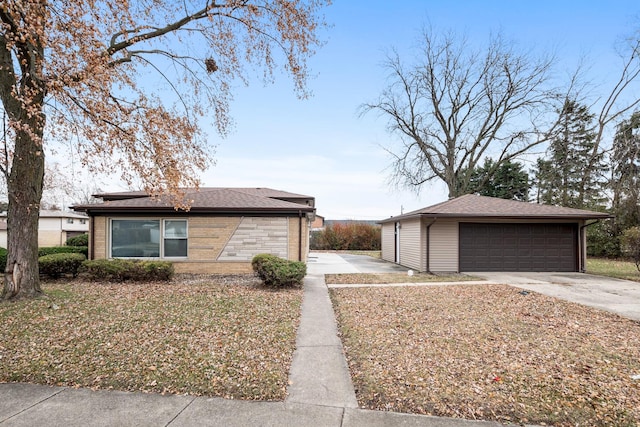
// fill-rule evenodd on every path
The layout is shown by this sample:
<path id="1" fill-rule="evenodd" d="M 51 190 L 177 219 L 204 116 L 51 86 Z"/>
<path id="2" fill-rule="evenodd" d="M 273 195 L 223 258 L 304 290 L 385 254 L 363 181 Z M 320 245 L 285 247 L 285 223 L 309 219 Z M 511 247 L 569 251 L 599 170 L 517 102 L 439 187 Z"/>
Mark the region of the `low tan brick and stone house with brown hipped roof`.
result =
<path id="1" fill-rule="evenodd" d="M 188 190 L 188 211 L 144 192 L 98 194 L 89 258 L 166 260 L 177 273 L 249 273 L 259 253 L 305 261 L 315 198 L 269 188 Z"/>

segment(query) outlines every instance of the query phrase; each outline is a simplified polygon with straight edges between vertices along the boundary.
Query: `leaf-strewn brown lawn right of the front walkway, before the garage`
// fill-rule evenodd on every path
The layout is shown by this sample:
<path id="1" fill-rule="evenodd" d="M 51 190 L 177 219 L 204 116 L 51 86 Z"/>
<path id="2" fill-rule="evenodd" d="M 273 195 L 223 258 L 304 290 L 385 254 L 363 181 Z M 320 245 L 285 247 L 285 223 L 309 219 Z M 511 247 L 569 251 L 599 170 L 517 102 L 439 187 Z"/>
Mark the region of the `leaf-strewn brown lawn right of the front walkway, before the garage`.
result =
<path id="1" fill-rule="evenodd" d="M 513 423 L 640 424 L 640 324 L 505 285 L 331 290 L 358 401 Z"/>

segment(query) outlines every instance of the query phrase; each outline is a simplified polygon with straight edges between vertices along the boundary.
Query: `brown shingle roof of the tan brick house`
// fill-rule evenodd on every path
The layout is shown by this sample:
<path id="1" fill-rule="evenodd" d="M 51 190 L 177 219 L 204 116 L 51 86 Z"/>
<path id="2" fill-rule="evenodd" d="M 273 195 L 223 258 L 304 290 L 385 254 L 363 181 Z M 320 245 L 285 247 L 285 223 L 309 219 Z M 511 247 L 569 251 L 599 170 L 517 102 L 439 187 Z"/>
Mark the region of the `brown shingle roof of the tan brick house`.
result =
<path id="1" fill-rule="evenodd" d="M 167 198 L 151 198 L 142 192 L 106 193 L 103 203 L 78 205 L 74 210 L 85 212 L 175 211 Z M 313 197 L 268 188 L 200 188 L 185 190 L 191 212 L 313 212 L 313 206 L 280 198 L 300 201 Z"/>

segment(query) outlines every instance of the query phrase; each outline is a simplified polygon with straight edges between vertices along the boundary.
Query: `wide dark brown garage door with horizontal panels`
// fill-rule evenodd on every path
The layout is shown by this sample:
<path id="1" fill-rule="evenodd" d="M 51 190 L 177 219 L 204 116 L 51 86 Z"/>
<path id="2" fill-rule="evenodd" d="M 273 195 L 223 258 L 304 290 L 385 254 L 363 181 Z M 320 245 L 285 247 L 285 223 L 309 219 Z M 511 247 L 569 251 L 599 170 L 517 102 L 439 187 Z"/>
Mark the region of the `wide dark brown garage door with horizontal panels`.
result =
<path id="1" fill-rule="evenodd" d="M 461 271 L 577 271 L 577 224 L 460 224 Z"/>

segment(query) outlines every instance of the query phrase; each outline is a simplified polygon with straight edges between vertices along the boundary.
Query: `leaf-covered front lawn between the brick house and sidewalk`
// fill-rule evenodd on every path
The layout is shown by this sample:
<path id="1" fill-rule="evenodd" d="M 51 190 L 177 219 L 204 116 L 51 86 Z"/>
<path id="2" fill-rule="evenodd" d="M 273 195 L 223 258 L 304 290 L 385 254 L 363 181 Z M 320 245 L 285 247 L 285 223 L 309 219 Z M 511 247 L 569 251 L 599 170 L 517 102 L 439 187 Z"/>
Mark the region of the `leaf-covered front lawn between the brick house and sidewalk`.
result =
<path id="1" fill-rule="evenodd" d="M 43 288 L 0 303 L 0 382 L 285 397 L 302 290 L 241 277 Z"/>

